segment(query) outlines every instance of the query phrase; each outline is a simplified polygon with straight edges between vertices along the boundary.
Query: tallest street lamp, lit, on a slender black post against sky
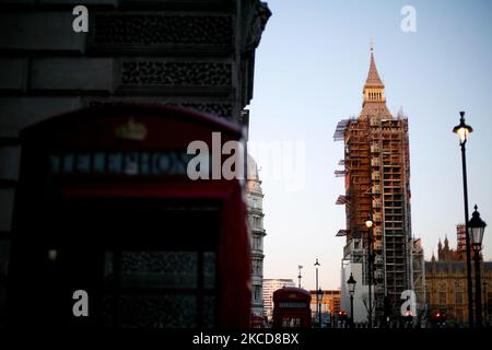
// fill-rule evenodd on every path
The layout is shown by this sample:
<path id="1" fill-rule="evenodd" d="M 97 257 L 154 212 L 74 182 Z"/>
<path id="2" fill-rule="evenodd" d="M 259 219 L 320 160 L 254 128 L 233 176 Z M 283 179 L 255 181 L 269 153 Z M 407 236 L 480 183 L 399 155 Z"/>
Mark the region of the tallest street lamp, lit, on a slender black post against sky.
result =
<path id="1" fill-rule="evenodd" d="M 467 250 L 467 284 L 468 284 L 468 317 L 470 323 L 470 328 L 473 327 L 473 296 L 472 296 L 472 284 L 471 284 L 471 247 L 470 247 L 470 234 L 468 232 L 468 184 L 467 184 L 467 152 L 465 144 L 467 143 L 468 135 L 470 135 L 473 129 L 465 122 L 465 112 L 460 112 L 459 125 L 453 128 L 453 132 L 458 135 L 459 145 L 461 147 L 461 167 L 462 167 L 462 191 L 465 201 L 465 237 L 466 237 L 466 250 Z"/>

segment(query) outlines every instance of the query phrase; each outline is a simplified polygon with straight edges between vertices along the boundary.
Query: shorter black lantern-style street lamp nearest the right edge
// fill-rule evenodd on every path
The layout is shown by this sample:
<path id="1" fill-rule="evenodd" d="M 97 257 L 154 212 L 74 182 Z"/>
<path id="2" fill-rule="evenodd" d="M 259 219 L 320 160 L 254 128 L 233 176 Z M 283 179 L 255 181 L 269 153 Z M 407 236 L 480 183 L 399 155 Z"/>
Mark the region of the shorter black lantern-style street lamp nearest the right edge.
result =
<path id="1" fill-rule="evenodd" d="M 469 235 L 471 244 L 475 250 L 475 303 L 477 313 L 477 327 L 482 327 L 482 295 L 481 295 L 481 281 L 480 281 L 480 249 L 482 248 L 483 232 L 485 231 L 487 223 L 480 219 L 480 213 L 477 211 L 478 207 L 475 205 L 475 211 L 471 214 L 471 219 L 468 222 Z"/>

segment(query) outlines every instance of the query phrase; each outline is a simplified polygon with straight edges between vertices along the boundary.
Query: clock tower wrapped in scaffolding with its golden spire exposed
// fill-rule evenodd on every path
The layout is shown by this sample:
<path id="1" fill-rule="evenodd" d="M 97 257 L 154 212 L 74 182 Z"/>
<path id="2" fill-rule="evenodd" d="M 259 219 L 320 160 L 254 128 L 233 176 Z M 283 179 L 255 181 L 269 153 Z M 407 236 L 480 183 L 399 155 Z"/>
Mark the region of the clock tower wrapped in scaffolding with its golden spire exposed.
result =
<path id="1" fill-rule="evenodd" d="M 413 284 L 408 119 L 389 113 L 373 50 L 362 110 L 358 118 L 341 120 L 333 138 L 344 142 L 340 162 L 344 168 L 336 171 L 345 179 L 345 194 L 337 200 L 345 205 L 347 213 L 347 229 L 338 234 L 347 237 L 343 259 L 361 266 L 362 284 L 367 288 L 365 221 L 371 215 L 373 315 L 376 323 L 387 317 L 398 319 L 400 294 Z"/>

